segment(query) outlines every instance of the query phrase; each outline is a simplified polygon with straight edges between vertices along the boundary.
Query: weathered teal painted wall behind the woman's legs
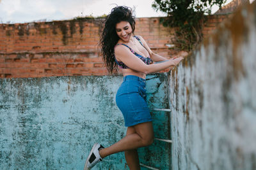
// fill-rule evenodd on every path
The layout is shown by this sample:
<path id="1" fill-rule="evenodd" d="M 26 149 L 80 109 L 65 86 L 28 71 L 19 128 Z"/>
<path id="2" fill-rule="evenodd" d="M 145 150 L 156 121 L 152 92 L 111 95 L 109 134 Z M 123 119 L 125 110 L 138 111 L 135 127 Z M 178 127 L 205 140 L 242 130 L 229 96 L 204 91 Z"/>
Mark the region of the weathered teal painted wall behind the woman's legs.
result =
<path id="1" fill-rule="evenodd" d="M 93 143 L 109 146 L 125 135 L 115 104 L 121 83 L 122 76 L 0 79 L 0 169 L 83 169 Z M 167 88 L 167 74 L 147 76 L 150 108 L 167 107 Z M 170 137 L 168 115 L 152 115 L 157 138 Z M 141 148 L 140 157 L 168 169 L 170 146 L 156 141 Z M 124 153 L 95 169 L 128 169 Z"/>

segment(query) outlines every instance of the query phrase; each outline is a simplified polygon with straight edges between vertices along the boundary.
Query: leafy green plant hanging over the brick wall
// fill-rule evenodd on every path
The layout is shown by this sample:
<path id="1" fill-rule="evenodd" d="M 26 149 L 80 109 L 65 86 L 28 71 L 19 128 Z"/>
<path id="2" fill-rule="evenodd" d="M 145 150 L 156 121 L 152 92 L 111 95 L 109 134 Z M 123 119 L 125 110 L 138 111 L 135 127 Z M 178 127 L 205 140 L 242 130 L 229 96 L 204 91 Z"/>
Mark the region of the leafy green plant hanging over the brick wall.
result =
<path id="1" fill-rule="evenodd" d="M 164 26 L 174 27 L 173 43 L 179 50 L 192 50 L 202 40 L 202 25 L 205 15 L 211 14 L 212 6 L 220 8 L 227 0 L 155 0 L 154 10 L 162 11 Z"/>

